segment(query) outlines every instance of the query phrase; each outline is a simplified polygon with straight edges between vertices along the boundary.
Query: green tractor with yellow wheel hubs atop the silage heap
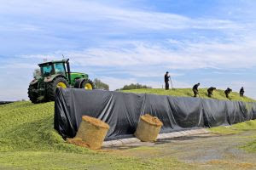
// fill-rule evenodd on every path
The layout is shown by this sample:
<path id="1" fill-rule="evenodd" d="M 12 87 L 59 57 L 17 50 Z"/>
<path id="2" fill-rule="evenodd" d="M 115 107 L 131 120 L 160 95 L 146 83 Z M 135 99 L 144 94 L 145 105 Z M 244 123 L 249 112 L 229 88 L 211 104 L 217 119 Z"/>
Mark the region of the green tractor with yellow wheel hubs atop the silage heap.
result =
<path id="1" fill-rule="evenodd" d="M 87 74 L 70 71 L 69 59 L 44 62 L 39 67 L 40 70 L 34 72 L 27 93 L 34 104 L 54 101 L 56 88 L 95 88 Z"/>

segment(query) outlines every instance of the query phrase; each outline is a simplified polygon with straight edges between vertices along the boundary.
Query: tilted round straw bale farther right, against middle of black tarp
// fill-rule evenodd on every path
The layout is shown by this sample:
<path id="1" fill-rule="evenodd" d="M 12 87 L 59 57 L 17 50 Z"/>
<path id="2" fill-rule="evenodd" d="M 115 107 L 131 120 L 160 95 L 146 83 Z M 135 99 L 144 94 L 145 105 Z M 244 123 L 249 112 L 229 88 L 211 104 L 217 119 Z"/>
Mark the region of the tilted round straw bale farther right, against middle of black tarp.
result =
<path id="1" fill-rule="evenodd" d="M 152 142 L 157 138 L 160 128 L 163 123 L 156 116 L 150 116 L 148 114 L 140 117 L 136 132 L 134 133 L 137 139 L 143 142 Z"/>

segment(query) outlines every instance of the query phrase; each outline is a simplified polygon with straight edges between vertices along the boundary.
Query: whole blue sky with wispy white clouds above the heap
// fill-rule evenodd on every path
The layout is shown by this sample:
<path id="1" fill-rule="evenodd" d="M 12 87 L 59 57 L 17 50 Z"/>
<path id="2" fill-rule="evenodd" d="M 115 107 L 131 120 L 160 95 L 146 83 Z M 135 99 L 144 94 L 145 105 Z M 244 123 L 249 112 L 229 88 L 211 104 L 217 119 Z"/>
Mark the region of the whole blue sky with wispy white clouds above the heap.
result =
<path id="1" fill-rule="evenodd" d="M 0 100 L 27 99 L 43 59 L 68 56 L 73 71 L 112 90 L 241 86 L 256 99 L 253 0 L 0 0 Z"/>

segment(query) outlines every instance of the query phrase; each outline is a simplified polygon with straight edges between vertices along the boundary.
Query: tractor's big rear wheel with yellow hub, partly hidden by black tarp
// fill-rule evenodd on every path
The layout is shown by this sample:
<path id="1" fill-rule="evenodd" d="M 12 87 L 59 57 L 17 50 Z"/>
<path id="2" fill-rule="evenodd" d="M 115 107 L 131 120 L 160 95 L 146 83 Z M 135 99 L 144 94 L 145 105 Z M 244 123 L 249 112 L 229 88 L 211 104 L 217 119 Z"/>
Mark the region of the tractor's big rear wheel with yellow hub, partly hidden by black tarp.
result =
<path id="1" fill-rule="evenodd" d="M 67 80 L 63 77 L 56 77 L 53 81 L 48 82 L 46 86 L 46 98 L 49 101 L 55 101 L 56 88 L 69 88 Z"/>

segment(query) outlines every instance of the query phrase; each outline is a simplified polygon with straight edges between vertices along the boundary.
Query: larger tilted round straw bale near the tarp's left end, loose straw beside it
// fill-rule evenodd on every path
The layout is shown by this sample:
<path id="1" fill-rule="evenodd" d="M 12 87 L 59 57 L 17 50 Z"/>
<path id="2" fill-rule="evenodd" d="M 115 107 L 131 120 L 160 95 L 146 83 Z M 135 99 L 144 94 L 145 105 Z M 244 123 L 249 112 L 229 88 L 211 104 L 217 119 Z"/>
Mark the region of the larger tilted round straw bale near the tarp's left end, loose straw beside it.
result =
<path id="1" fill-rule="evenodd" d="M 75 138 L 82 139 L 90 149 L 100 149 L 108 129 L 108 123 L 94 117 L 82 116 L 82 122 Z"/>

